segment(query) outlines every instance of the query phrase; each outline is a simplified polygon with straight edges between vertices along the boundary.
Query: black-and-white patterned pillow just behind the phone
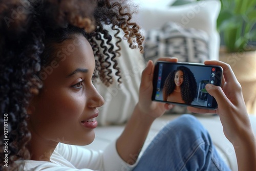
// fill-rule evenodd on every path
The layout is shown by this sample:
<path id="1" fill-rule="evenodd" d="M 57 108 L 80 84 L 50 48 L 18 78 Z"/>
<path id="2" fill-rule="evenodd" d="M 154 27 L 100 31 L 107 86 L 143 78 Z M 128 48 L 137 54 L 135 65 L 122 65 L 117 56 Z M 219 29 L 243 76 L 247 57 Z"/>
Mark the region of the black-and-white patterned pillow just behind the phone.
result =
<path id="1" fill-rule="evenodd" d="M 161 29 L 148 30 L 144 42 L 145 61 L 159 57 L 177 57 L 181 62 L 203 63 L 209 60 L 209 37 L 202 30 L 184 29 L 176 23 L 166 23 Z M 167 113 L 189 113 L 176 105 Z"/>

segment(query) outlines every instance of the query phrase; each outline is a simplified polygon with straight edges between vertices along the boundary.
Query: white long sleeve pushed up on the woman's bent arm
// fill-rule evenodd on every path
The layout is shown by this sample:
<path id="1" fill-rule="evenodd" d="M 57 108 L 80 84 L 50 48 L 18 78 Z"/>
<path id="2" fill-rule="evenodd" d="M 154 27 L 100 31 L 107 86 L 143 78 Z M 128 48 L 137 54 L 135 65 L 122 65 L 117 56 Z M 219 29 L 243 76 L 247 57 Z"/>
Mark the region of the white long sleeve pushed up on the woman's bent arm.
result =
<path id="1" fill-rule="evenodd" d="M 53 155 L 51 159 L 55 163 L 59 165 L 70 163 L 70 165 L 78 169 L 115 171 L 132 170 L 136 166 L 136 164 L 129 165 L 120 158 L 116 151 L 116 141 L 110 143 L 103 152 L 60 143 L 55 149 L 56 154 L 61 155 L 62 159 L 59 157 L 54 158 Z"/>

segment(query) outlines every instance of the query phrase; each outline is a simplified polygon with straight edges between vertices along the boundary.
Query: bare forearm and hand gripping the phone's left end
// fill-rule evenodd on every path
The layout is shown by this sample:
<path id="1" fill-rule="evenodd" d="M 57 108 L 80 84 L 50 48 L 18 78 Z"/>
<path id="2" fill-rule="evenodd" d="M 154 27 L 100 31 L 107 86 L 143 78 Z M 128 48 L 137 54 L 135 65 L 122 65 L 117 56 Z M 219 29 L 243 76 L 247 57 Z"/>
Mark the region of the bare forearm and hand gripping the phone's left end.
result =
<path id="1" fill-rule="evenodd" d="M 178 61 L 177 58 L 160 58 L 159 60 Z M 151 100 L 153 73 L 154 65 L 150 60 L 142 72 L 139 102 L 135 106 L 130 120 L 127 122 L 123 133 L 116 143 L 118 154 L 129 164 L 136 162 L 153 121 L 173 106 Z"/>

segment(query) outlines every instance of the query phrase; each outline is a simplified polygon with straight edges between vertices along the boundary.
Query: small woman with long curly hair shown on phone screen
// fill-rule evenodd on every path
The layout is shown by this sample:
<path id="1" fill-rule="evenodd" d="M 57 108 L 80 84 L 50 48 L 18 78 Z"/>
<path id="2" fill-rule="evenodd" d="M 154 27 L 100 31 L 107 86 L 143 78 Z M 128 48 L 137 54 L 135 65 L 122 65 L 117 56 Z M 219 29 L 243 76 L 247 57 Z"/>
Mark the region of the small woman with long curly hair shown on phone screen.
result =
<path id="1" fill-rule="evenodd" d="M 164 81 L 163 100 L 190 104 L 196 95 L 197 82 L 194 74 L 184 66 L 169 73 Z"/>

